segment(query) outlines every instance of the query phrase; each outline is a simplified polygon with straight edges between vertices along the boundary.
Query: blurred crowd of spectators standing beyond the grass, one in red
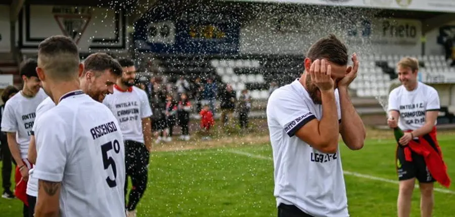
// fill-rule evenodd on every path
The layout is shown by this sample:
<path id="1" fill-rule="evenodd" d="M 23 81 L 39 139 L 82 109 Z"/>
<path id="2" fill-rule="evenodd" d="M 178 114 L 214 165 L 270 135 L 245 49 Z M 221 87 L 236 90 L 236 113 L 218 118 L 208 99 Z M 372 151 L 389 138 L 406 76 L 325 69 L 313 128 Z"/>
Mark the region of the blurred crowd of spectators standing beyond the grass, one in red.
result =
<path id="1" fill-rule="evenodd" d="M 184 76 L 176 81 L 167 76 L 138 77 L 136 86 L 146 91 L 152 107 L 156 143 L 172 141 L 176 127 L 181 130 L 179 139 L 189 140 L 190 117 L 193 114 L 200 118 L 202 139 L 210 139 L 210 129 L 215 124 L 217 113 L 220 113 L 223 127 L 248 127 L 251 97 L 247 89 L 237 97 L 231 84 L 217 83 L 212 77 L 197 77 L 194 81 Z"/>

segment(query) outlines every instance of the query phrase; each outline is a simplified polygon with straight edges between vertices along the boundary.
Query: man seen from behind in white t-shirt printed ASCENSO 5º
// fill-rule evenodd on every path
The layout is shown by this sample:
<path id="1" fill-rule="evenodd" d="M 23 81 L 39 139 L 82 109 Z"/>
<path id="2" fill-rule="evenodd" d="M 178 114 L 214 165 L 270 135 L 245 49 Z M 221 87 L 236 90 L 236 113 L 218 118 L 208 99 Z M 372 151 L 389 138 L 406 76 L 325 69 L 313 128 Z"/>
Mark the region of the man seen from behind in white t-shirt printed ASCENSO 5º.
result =
<path id="1" fill-rule="evenodd" d="M 124 217 L 120 126 L 105 105 L 80 90 L 84 65 L 73 40 L 51 36 L 39 43 L 36 72 L 56 106 L 35 123 L 35 216 Z"/>

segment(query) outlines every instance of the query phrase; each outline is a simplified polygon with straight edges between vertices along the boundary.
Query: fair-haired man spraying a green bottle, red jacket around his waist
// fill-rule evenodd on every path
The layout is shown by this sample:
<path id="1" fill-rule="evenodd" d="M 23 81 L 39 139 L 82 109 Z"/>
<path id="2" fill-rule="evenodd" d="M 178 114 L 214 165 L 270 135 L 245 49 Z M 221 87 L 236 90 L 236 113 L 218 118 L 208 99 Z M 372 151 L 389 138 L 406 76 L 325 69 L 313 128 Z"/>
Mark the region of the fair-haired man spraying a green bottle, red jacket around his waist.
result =
<path id="1" fill-rule="evenodd" d="M 405 133 L 396 150 L 399 180 L 398 217 L 408 217 L 416 179 L 421 192 L 421 216 L 433 211 L 433 184 L 449 187 L 450 178 L 442 160 L 436 139 L 436 120 L 440 110 L 436 89 L 417 80 L 419 62 L 403 58 L 397 64 L 401 86 L 389 94 L 387 121 L 390 128 L 399 127 Z"/>

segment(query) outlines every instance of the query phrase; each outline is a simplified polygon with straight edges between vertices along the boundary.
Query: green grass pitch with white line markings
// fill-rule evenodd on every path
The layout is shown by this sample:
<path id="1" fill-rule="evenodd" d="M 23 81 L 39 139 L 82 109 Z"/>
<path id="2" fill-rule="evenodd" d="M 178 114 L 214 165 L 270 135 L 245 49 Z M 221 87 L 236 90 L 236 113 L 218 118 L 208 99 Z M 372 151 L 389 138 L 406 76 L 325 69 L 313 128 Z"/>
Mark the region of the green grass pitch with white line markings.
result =
<path id="1" fill-rule="evenodd" d="M 451 178 L 455 135 L 438 136 Z M 240 139 L 239 139 L 240 140 Z M 363 149 L 341 145 L 349 213 L 353 217 L 396 216 L 398 185 L 392 140 L 367 140 Z M 277 216 L 268 143 L 204 150 L 153 152 L 149 183 L 138 216 Z M 435 217 L 455 212 L 455 186 L 436 184 Z M 412 215 L 420 216 L 415 190 Z M 19 200 L 0 198 L 1 216 L 21 216 Z"/>

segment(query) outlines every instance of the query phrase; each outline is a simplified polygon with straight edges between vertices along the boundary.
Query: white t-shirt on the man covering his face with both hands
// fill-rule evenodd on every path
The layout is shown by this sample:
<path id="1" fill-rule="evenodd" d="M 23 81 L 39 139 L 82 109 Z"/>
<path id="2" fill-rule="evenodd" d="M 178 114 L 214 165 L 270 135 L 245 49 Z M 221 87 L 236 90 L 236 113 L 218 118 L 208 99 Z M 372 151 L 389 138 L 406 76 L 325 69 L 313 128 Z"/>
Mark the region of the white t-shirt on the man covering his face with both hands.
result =
<path id="1" fill-rule="evenodd" d="M 335 98 L 340 122 L 338 90 Z M 270 94 L 266 113 L 277 206 L 295 205 L 313 216 L 349 216 L 340 150 L 322 153 L 294 135 L 309 121 L 321 120 L 322 105 L 313 103 L 297 79 Z"/>

